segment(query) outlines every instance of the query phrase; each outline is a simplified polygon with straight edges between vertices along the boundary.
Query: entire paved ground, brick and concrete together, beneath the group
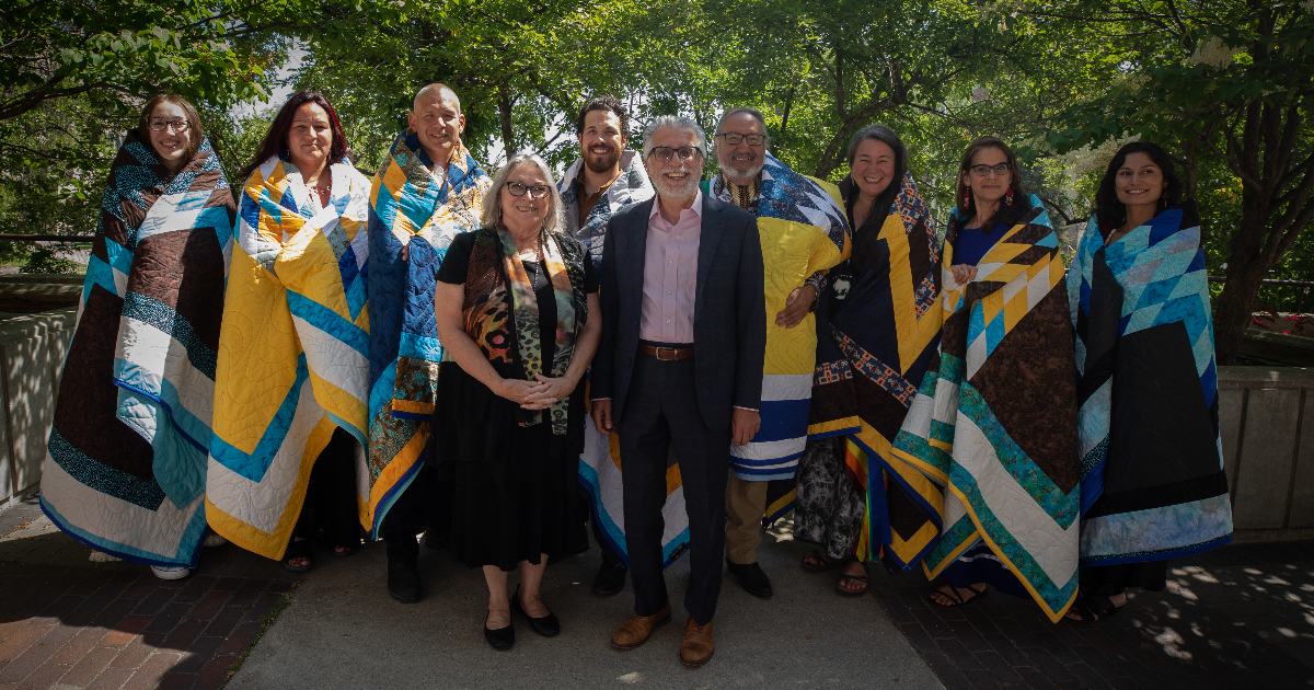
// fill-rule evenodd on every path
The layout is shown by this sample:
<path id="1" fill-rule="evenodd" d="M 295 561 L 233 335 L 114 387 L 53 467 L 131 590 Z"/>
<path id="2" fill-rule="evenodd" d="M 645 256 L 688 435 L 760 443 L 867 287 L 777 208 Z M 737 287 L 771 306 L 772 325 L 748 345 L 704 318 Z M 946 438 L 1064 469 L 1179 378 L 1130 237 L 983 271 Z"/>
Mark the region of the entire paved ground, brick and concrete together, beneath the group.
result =
<path id="1" fill-rule="evenodd" d="M 164 582 L 141 565 L 87 561 L 87 547 L 26 502 L 0 511 L 0 690 L 1314 686 L 1314 543 L 1187 559 L 1167 591 L 1137 594 L 1110 620 L 1059 624 L 999 593 L 932 606 L 921 574 L 879 568 L 871 595 L 842 598 L 837 572 L 798 566 L 805 551 L 788 523 L 766 536 L 759 559 L 777 595 L 756 599 L 727 577 L 716 657 L 687 670 L 679 606 L 644 647 L 608 647 L 632 590 L 589 593 L 597 552 L 548 569 L 562 635 L 518 620 L 515 649 L 497 653 L 481 633 L 482 577 L 444 552 L 423 549 L 426 599 L 414 606 L 388 598 L 381 544 L 344 560 L 321 552 L 304 580 L 218 547 L 191 578 Z M 677 598 L 687 577 L 683 560 L 668 572 Z"/>

